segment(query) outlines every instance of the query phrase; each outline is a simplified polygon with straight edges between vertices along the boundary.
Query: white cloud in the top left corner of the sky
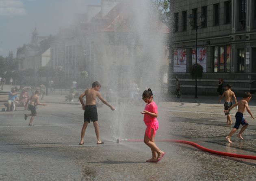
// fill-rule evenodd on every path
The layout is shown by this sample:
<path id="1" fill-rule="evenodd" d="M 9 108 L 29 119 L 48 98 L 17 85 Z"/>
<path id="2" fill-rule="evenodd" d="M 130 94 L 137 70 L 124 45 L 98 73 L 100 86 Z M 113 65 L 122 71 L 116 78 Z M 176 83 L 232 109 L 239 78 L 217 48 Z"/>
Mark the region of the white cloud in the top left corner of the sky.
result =
<path id="1" fill-rule="evenodd" d="M 26 15 L 26 9 L 21 0 L 0 0 L 0 16 Z"/>

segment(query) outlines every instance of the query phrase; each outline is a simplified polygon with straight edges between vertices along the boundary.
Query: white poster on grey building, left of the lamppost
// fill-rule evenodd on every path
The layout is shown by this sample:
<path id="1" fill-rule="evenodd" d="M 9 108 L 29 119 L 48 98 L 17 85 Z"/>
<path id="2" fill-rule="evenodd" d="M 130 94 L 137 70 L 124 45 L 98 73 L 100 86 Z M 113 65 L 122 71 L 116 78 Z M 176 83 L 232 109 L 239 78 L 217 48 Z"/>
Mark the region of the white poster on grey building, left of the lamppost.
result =
<path id="1" fill-rule="evenodd" d="M 187 51 L 186 49 L 174 50 L 174 72 L 186 72 Z"/>

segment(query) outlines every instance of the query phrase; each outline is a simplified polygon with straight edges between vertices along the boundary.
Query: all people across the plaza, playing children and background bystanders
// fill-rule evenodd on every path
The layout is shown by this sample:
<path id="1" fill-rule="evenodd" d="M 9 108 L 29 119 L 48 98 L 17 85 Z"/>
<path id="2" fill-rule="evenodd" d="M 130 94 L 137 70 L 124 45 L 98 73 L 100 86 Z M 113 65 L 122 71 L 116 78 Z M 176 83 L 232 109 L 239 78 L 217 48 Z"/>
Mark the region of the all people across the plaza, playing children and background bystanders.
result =
<path id="1" fill-rule="evenodd" d="M 52 86 L 52 91 L 54 91 L 54 86 L 52 84 L 53 81 L 50 81 L 50 85 Z M 252 112 L 249 109 L 248 102 L 251 100 L 252 95 L 249 92 L 245 92 L 243 95 L 243 99 L 237 101 L 236 96 L 234 92 L 231 90 L 232 85 L 228 83 L 226 85 L 226 91 L 222 93 L 222 86 L 223 86 L 223 80 L 219 79 L 218 83 L 218 92 L 221 93 L 219 102 L 221 102 L 221 99 L 225 97 L 224 102 L 224 113 L 227 115 L 227 126 L 232 124 L 232 119 L 230 116 L 230 110 L 236 107 L 237 113 L 235 115 L 236 122 L 234 124 L 234 128 L 230 131 L 228 136 L 226 136 L 226 140 L 229 143 L 232 143 L 231 136 L 239 129 L 239 126 L 242 125 L 240 132 L 237 134 L 237 137 L 240 139 L 243 139 L 242 134 L 245 131 L 245 129 L 248 127 L 248 122 L 244 119 L 243 113 L 245 112 L 245 109 L 251 115 L 251 117 L 254 119 L 254 116 L 252 115 Z M 82 126 L 81 131 L 81 139 L 79 142 L 79 145 L 84 144 L 84 136 L 85 136 L 85 130 L 87 128 L 87 125 L 92 121 L 93 126 L 95 127 L 95 134 L 97 137 L 97 144 L 104 144 L 103 141 L 100 140 L 100 132 L 98 127 L 98 113 L 97 113 L 97 102 L 102 102 L 103 104 L 106 104 L 111 108 L 112 111 L 116 110 L 111 104 L 109 104 L 106 100 L 106 96 L 102 96 L 100 94 L 99 90 L 101 88 L 100 83 L 97 81 L 92 84 L 92 87 L 89 89 L 86 89 L 85 92 L 83 92 L 79 96 L 80 103 L 82 104 L 82 109 L 84 110 L 84 124 Z M 46 106 L 45 103 L 39 102 L 39 97 L 41 97 L 41 100 L 43 99 L 43 95 L 46 93 L 46 87 L 45 85 L 41 84 L 39 88 L 35 89 L 35 92 L 32 96 L 29 96 L 28 94 L 28 88 L 20 87 L 21 93 L 19 100 L 17 99 L 17 87 L 12 87 L 11 91 L 9 92 L 9 98 L 7 102 L 7 111 L 15 111 L 15 108 L 17 104 L 22 104 L 25 110 L 30 110 L 30 114 L 24 114 L 24 119 L 26 120 L 29 116 L 30 122 L 28 126 L 34 126 L 33 120 L 35 116 L 37 115 L 36 106 L 37 105 L 43 105 Z M 112 91 L 112 90 L 111 90 Z M 134 98 L 139 95 L 139 88 L 136 83 L 132 83 L 129 89 L 130 92 L 130 98 Z M 176 94 L 179 98 L 180 96 L 180 83 L 178 79 L 176 79 Z M 69 91 L 68 98 L 70 101 L 74 101 L 74 96 L 76 95 L 76 87 L 71 87 Z M 86 100 L 83 100 L 83 98 L 86 98 Z M 152 158 L 149 160 L 146 160 L 146 162 L 159 162 L 163 156 L 165 155 L 165 152 L 161 151 L 154 142 L 154 136 L 156 134 L 156 131 L 158 130 L 158 120 L 156 119 L 158 117 L 158 110 L 157 105 L 153 100 L 153 92 L 151 89 L 147 89 L 142 94 L 142 100 L 145 102 L 145 108 L 143 111 L 141 111 L 141 114 L 144 115 L 143 121 L 146 125 L 145 135 L 144 135 L 144 143 L 150 147 L 152 151 Z M 234 104 L 233 104 L 234 100 Z"/>

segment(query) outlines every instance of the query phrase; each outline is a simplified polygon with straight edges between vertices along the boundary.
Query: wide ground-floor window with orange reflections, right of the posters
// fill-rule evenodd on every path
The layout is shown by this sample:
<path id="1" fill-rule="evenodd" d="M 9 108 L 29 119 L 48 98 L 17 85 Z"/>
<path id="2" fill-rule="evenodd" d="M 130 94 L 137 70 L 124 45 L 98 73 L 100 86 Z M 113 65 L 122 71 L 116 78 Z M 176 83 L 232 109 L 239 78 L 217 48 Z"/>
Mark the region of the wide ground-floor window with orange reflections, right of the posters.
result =
<path id="1" fill-rule="evenodd" d="M 230 45 L 213 47 L 214 72 L 230 72 Z"/>

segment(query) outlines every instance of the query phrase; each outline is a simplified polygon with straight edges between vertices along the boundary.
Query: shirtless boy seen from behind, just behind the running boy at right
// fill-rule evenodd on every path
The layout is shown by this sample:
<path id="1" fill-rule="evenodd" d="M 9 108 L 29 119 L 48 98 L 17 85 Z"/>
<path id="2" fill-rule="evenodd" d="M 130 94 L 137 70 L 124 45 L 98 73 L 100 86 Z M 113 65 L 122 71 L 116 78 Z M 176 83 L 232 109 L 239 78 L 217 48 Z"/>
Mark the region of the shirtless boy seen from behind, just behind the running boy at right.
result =
<path id="1" fill-rule="evenodd" d="M 224 103 L 224 109 L 228 110 L 232 106 L 232 98 L 234 97 L 234 101 L 236 103 L 236 96 L 234 95 L 234 92 L 231 91 L 231 84 L 228 83 L 226 86 L 226 91 L 223 92 L 222 96 L 219 98 L 219 102 L 221 102 L 221 99 L 225 96 L 225 103 Z M 230 111 L 226 112 L 225 115 L 227 115 L 227 126 L 232 124 Z"/>

